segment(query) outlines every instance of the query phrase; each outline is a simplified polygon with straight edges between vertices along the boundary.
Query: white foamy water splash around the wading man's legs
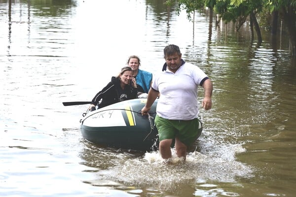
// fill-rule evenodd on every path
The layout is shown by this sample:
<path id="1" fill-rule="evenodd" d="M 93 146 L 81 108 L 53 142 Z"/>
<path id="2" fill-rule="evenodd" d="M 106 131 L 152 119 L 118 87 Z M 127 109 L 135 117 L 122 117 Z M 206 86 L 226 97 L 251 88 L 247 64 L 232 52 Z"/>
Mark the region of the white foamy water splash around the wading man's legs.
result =
<path id="1" fill-rule="evenodd" d="M 178 184 L 219 181 L 235 182 L 236 178 L 252 176 L 252 168 L 235 161 L 234 154 L 244 152 L 241 145 L 220 148 L 220 154 L 187 154 L 186 161 L 172 149 L 171 164 L 164 164 L 158 151 L 146 153 L 140 158 L 131 158 L 107 170 L 100 171 L 103 179 L 116 180 L 138 186 L 157 186 L 170 190 Z M 202 181 L 201 181 L 202 180 Z"/>

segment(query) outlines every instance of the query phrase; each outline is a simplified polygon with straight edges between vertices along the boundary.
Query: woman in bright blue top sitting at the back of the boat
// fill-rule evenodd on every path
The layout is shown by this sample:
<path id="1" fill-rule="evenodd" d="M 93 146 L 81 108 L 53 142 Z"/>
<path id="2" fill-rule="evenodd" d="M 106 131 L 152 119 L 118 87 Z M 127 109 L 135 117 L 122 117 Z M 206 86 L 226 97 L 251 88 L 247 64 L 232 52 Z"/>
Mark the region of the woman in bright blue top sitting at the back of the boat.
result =
<path id="1" fill-rule="evenodd" d="M 132 55 L 128 58 L 127 65 L 134 71 L 133 77 L 136 78 L 137 83 L 144 89 L 143 93 L 148 93 L 151 87 L 152 73 L 139 69 L 141 61 L 136 55 Z"/>

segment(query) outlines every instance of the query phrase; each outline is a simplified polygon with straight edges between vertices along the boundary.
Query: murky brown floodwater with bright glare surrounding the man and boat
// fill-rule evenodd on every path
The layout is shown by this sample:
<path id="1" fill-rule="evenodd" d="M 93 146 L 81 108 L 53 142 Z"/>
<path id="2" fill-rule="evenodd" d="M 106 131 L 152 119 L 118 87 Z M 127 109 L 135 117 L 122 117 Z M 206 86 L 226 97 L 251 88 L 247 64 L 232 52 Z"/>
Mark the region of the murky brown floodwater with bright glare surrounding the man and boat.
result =
<path id="1" fill-rule="evenodd" d="M 192 23 L 161 0 L 0 0 L 0 30 L 0 196 L 296 193 L 296 63 L 284 27 L 277 42 L 261 30 L 258 46 L 247 24 L 211 29 L 207 15 Z M 83 139 L 87 105 L 62 102 L 91 100 L 130 55 L 160 71 L 171 43 L 214 83 L 186 162 Z"/>

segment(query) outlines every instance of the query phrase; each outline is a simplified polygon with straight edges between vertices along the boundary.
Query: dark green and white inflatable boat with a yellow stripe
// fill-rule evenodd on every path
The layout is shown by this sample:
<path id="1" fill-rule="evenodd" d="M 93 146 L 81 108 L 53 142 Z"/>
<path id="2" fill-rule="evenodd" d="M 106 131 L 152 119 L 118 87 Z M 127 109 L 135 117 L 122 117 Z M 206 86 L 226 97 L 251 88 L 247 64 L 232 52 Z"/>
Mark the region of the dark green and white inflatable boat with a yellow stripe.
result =
<path id="1" fill-rule="evenodd" d="M 158 131 L 154 127 L 156 105 L 148 115 L 141 109 L 147 99 L 131 99 L 88 112 L 80 120 L 83 138 L 90 142 L 114 148 L 152 151 L 158 147 Z"/>

